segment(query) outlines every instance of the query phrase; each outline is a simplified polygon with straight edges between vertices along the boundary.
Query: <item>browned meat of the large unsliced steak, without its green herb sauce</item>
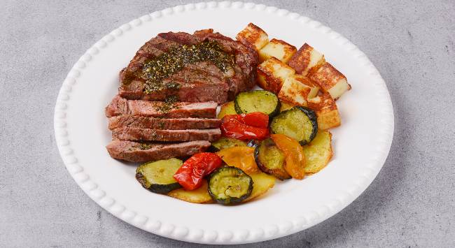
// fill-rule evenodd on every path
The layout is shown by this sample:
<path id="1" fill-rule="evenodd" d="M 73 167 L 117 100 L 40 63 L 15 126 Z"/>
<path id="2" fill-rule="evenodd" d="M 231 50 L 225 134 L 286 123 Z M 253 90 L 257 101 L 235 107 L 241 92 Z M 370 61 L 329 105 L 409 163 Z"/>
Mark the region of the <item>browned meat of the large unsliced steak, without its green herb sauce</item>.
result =
<path id="1" fill-rule="evenodd" d="M 221 71 L 211 61 L 186 64 L 180 71 L 162 79 L 162 85 L 146 93 L 146 79 L 142 76 L 144 63 L 159 57 L 172 48 L 181 45 L 195 45 L 203 41 L 215 41 L 224 52 L 234 56 L 232 68 Z M 255 85 L 258 54 L 238 41 L 232 40 L 212 29 L 196 31 L 195 34 L 169 32 L 158 34 L 144 44 L 134 56 L 127 68 L 120 71 L 119 94 L 127 99 L 163 101 L 167 96 L 179 96 L 180 101 L 225 103 L 239 92 L 251 89 Z M 195 68 L 196 67 L 196 68 Z M 178 89 L 169 89 L 166 85 L 178 84 Z"/>

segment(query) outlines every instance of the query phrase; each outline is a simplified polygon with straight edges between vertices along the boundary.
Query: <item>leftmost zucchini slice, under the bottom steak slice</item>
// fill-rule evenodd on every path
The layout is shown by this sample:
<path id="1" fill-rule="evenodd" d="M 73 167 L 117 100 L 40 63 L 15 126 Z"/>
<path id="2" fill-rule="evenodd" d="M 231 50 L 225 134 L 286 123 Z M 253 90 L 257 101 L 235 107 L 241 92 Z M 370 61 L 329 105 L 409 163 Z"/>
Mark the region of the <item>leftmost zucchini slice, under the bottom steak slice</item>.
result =
<path id="1" fill-rule="evenodd" d="M 144 163 L 136 169 L 136 179 L 142 187 L 154 193 L 166 194 L 181 187 L 173 177 L 181 165 L 180 159 Z"/>

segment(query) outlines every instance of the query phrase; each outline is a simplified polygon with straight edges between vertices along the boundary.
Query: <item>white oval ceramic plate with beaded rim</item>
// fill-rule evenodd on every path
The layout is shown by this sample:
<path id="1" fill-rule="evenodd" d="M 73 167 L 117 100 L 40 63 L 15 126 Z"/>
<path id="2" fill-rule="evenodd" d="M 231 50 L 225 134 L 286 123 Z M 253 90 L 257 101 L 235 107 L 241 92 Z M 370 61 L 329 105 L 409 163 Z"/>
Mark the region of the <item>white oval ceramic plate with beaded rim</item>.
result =
<path id="1" fill-rule="evenodd" d="M 165 31 L 213 28 L 235 37 L 248 22 L 270 38 L 325 54 L 352 85 L 337 105 L 342 126 L 331 130 L 335 156 L 304 180 L 277 183 L 243 205 L 199 205 L 144 190 L 135 166 L 111 159 L 104 107 L 118 88 L 118 72 L 148 39 Z M 393 136 L 393 108 L 378 71 L 346 38 L 288 10 L 254 3 L 197 3 L 167 8 L 122 25 L 87 50 L 60 89 L 55 138 L 69 173 L 95 202 L 151 233 L 210 244 L 258 242 L 302 231 L 349 205 L 379 173 Z"/>

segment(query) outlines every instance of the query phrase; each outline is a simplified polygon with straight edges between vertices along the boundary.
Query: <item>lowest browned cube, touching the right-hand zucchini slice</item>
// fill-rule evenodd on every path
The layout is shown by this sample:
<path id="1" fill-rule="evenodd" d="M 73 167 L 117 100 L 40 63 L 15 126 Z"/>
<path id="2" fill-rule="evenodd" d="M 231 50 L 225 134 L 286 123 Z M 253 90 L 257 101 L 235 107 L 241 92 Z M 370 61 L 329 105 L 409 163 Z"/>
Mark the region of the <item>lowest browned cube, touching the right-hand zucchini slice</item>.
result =
<path id="1" fill-rule="evenodd" d="M 308 107 L 316 112 L 318 129 L 331 129 L 341 125 L 337 103 L 328 93 L 307 100 Z"/>

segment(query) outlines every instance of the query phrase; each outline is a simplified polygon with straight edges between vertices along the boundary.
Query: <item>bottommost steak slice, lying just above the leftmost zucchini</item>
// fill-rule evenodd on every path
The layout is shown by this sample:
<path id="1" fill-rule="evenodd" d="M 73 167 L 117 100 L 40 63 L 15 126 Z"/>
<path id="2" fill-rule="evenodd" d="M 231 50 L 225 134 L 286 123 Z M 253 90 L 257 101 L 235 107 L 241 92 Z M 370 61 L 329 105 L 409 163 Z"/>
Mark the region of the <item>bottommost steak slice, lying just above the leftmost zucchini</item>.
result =
<path id="1" fill-rule="evenodd" d="M 131 162 L 156 161 L 174 157 L 191 156 L 204 152 L 209 148 L 207 140 L 197 140 L 185 143 L 150 143 L 142 144 L 125 140 L 112 140 L 106 146 L 107 151 L 114 159 Z"/>

